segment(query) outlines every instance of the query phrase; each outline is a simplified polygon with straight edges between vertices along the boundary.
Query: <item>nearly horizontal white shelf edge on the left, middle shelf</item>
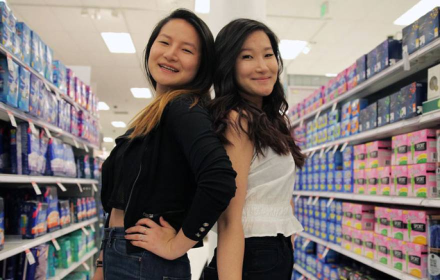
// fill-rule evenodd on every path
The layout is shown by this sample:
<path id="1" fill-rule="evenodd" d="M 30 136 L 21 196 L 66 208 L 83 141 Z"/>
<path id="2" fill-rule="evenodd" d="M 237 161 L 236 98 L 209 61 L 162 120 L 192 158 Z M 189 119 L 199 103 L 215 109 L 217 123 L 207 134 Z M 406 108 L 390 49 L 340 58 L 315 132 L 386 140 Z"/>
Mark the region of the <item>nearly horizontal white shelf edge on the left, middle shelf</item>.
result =
<path id="1" fill-rule="evenodd" d="M 98 180 L 72 178 L 72 177 L 58 177 L 58 176 L 33 176 L 33 175 L 16 175 L 16 174 L 1 174 L 0 183 L 80 183 L 80 184 L 98 184 Z"/>

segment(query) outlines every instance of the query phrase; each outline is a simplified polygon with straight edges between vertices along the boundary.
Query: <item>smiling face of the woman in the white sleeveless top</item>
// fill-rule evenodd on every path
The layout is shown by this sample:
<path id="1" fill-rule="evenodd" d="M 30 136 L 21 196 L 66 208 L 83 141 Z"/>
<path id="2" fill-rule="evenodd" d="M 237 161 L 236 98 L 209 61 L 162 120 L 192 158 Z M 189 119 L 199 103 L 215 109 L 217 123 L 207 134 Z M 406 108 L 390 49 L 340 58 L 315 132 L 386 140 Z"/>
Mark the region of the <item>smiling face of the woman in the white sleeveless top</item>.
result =
<path id="1" fill-rule="evenodd" d="M 269 37 L 264 31 L 251 33 L 235 60 L 235 80 L 240 94 L 261 107 L 278 77 L 278 62 L 273 54 Z"/>

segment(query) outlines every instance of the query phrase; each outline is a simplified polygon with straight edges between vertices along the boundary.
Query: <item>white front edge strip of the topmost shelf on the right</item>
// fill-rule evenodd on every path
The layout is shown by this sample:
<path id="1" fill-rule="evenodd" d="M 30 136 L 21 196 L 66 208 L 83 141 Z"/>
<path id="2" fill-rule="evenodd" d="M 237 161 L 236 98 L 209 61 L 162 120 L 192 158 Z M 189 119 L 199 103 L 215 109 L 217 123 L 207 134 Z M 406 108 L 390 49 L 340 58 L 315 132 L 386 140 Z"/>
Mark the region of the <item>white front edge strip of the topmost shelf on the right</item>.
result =
<path id="1" fill-rule="evenodd" d="M 416 51 L 414 51 L 413 53 L 411 53 L 409 55 L 409 61 L 410 62 L 414 62 L 414 61 L 417 62 L 417 59 L 419 59 L 418 56 L 427 54 L 432 49 L 437 48 L 437 47 L 440 47 L 440 38 L 435 39 L 434 41 L 430 42 L 429 44 L 427 44 L 427 45 L 423 46 L 422 48 L 419 48 Z M 420 70 L 416 66 L 417 65 L 411 65 L 411 68 L 415 68 L 416 71 Z M 359 83 L 359 85 L 357 85 L 353 89 L 350 89 L 350 90 L 342 93 L 342 95 L 339 95 L 334 100 L 330 100 L 329 102 L 323 104 L 322 106 L 319 106 L 318 108 L 316 108 L 313 111 L 311 111 L 311 112 L 309 112 L 309 113 L 299 117 L 298 119 L 296 119 L 294 121 L 290 121 L 291 126 L 296 126 L 296 125 L 298 125 L 301 122 L 301 120 L 305 121 L 306 119 L 315 116 L 318 111 L 321 112 L 321 111 L 323 111 L 323 110 L 325 110 L 327 108 L 330 108 L 333 105 L 334 102 L 339 103 L 342 100 L 346 100 L 346 99 L 355 97 L 355 95 L 357 93 L 362 92 L 362 90 L 365 87 L 373 85 L 374 83 L 376 83 L 376 82 L 378 82 L 378 81 L 380 81 L 382 79 L 386 79 L 386 76 L 389 73 L 392 73 L 394 71 L 405 72 L 405 70 L 403 69 L 403 59 L 400 59 L 394 65 L 391 65 L 391 66 L 385 68 L 384 70 L 380 71 L 379 73 L 373 75 L 372 77 L 364 80 L 363 82 Z M 389 83 L 388 85 L 391 85 L 392 83 Z M 384 86 L 384 87 L 386 87 L 386 86 Z"/>

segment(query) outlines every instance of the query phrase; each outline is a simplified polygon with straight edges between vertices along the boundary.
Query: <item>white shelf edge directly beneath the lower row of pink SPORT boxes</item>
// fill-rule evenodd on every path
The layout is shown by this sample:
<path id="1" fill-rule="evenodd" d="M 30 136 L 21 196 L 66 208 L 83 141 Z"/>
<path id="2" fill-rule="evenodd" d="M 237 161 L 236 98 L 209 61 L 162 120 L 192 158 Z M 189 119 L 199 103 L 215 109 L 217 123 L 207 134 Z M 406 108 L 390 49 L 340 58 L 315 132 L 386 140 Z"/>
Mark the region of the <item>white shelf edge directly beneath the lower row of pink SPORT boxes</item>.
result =
<path id="1" fill-rule="evenodd" d="M 408 273 L 404 273 L 404 272 L 398 271 L 396 269 L 393 269 L 391 267 L 388 267 L 388 266 L 386 266 L 384 264 L 381 264 L 381 263 L 379 263 L 379 262 L 377 262 L 377 261 L 375 261 L 373 259 L 367 258 L 367 257 L 362 256 L 362 255 L 358 255 L 358 254 L 356 254 L 356 253 L 354 253 L 352 251 L 349 251 L 349 250 L 346 250 L 346 249 L 342 248 L 341 246 L 339 246 L 337 244 L 333 244 L 333 243 L 324 241 L 324 240 L 322 240 L 320 238 L 317 238 L 316 236 L 313 236 L 311 234 L 308 234 L 308 233 L 305 233 L 305 232 L 299 232 L 298 234 L 300 236 L 304 237 L 304 238 L 308 238 L 308 239 L 312 240 L 313 242 L 322 244 L 322 245 L 332 249 L 333 251 L 336 251 L 336 252 L 339 252 L 339 253 L 341 253 L 343 255 L 346 255 L 346 256 L 348 256 L 348 257 L 350 257 L 352 259 L 355 259 L 355 260 L 357 260 L 357 261 L 359 261 L 359 262 L 361 262 L 363 264 L 371 266 L 371 267 L 373 267 L 373 268 L 375 268 L 375 269 L 377 269 L 379 271 L 382 271 L 383 273 L 386 273 L 388 275 L 396 277 L 396 278 L 398 278 L 400 280 L 423 280 L 423 279 L 417 278 L 415 276 L 412 276 L 412 275 L 410 275 Z"/>

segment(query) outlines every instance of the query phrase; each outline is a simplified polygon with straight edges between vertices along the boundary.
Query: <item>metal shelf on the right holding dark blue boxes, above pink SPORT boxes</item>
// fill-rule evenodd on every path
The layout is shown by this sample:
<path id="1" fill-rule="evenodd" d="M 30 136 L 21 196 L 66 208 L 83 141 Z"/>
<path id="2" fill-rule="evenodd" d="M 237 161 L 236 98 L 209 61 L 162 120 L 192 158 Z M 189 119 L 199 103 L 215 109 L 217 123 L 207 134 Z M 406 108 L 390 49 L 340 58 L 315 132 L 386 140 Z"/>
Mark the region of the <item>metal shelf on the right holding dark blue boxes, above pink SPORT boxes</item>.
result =
<path id="1" fill-rule="evenodd" d="M 386 124 L 377 128 L 366 130 L 345 138 L 340 138 L 335 141 L 330 141 L 311 148 L 303 149 L 303 153 L 309 153 L 320 149 L 328 148 L 329 146 L 340 145 L 345 142 L 357 144 L 367 141 L 378 140 L 406 132 L 411 132 L 418 129 L 428 128 L 440 123 L 440 111 L 433 111 L 422 114 L 409 119 L 400 120 L 394 123 Z"/>

